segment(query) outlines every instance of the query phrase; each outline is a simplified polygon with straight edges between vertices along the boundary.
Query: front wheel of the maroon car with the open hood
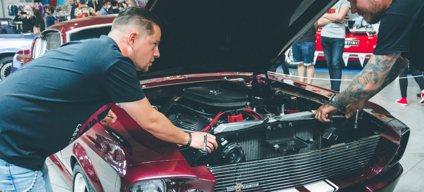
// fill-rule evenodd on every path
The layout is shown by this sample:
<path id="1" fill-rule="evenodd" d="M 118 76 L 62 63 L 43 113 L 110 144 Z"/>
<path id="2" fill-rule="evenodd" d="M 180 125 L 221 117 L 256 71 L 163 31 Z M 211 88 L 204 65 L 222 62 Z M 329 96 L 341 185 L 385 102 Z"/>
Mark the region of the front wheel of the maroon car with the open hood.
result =
<path id="1" fill-rule="evenodd" d="M 96 192 L 79 163 L 75 163 L 72 179 L 73 192 Z"/>

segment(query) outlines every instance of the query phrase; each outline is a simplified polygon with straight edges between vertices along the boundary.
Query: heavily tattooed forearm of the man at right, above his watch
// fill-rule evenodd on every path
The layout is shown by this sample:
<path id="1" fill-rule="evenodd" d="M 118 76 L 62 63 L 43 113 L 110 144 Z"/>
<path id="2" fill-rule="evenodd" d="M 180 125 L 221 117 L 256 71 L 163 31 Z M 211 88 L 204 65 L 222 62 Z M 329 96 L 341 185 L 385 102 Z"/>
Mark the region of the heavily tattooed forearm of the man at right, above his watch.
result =
<path id="1" fill-rule="evenodd" d="M 349 87 L 336 97 L 336 102 L 344 106 L 368 100 L 377 94 L 402 72 L 397 73 L 402 67 L 400 64 L 396 64 L 396 66 L 399 65 L 398 67 L 393 67 L 399 55 L 399 53 L 385 56 L 372 55 L 362 72 L 356 75 Z M 396 76 L 393 78 L 394 75 Z"/>

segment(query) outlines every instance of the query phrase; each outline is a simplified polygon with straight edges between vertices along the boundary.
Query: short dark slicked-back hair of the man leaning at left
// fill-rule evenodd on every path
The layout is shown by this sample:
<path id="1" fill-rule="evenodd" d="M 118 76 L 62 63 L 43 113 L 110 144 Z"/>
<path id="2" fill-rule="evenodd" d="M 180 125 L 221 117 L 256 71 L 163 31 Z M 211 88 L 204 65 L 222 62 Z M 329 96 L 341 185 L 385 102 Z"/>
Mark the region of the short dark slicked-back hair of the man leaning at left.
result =
<path id="1" fill-rule="evenodd" d="M 162 30 L 159 18 L 147 8 L 139 6 L 127 7 L 119 11 L 118 16 L 112 22 L 112 30 L 125 25 L 144 27 L 148 30 L 148 35 L 153 35 L 153 25 L 159 26 Z"/>

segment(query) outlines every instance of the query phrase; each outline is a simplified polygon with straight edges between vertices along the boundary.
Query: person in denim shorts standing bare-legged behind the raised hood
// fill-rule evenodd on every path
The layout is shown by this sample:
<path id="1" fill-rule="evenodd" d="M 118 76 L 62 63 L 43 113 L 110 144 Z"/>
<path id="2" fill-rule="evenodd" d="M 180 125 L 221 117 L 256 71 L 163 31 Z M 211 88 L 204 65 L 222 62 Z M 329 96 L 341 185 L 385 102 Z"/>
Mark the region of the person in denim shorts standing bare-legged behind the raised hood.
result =
<path id="1" fill-rule="evenodd" d="M 312 84 L 315 73 L 314 53 L 315 53 L 315 25 L 308 29 L 292 46 L 294 64 L 297 64 L 297 71 L 300 77 L 305 76 L 307 68 L 307 82 Z M 306 67 L 305 67 L 306 66 Z M 304 78 L 299 78 L 304 82 Z"/>

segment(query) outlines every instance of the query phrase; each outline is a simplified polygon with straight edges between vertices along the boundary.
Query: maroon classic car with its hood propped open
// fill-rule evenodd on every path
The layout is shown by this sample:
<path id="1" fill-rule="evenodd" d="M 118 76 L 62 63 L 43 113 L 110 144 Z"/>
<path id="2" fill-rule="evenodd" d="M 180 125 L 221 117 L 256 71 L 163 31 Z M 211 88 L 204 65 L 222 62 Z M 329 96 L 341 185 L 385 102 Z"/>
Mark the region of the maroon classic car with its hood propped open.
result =
<path id="1" fill-rule="evenodd" d="M 406 125 L 371 102 L 357 128 L 342 111 L 318 122 L 312 110 L 334 92 L 266 73 L 336 2 L 150 0 L 161 56 L 140 86 L 177 127 L 214 134 L 218 149 L 164 142 L 114 105 L 117 122 L 95 124 L 50 160 L 75 192 L 392 192 Z M 106 35 L 114 17 L 53 25 L 14 66 Z"/>

